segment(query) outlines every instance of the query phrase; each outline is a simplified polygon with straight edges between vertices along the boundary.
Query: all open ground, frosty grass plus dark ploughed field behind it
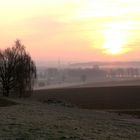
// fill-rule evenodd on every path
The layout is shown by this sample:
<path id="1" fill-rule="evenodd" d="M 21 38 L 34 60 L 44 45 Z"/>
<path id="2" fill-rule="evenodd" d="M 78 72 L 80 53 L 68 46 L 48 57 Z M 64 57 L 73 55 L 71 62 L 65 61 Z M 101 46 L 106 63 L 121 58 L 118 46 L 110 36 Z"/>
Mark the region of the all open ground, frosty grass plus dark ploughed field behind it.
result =
<path id="1" fill-rule="evenodd" d="M 48 89 L 34 91 L 33 100 L 11 99 L 16 105 L 0 108 L 0 139 L 139 140 L 140 119 L 123 114 L 139 113 L 139 90 L 139 86 Z"/>

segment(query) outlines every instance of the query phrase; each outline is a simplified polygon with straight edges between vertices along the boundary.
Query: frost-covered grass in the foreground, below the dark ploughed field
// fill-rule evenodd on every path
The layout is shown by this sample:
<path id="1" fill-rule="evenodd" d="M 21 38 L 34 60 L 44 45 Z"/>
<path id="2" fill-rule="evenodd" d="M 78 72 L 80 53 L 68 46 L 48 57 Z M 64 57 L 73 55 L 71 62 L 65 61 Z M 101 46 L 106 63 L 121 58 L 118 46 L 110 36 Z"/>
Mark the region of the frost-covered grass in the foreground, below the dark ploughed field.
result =
<path id="1" fill-rule="evenodd" d="M 140 120 L 36 101 L 0 108 L 0 139 L 139 140 Z"/>

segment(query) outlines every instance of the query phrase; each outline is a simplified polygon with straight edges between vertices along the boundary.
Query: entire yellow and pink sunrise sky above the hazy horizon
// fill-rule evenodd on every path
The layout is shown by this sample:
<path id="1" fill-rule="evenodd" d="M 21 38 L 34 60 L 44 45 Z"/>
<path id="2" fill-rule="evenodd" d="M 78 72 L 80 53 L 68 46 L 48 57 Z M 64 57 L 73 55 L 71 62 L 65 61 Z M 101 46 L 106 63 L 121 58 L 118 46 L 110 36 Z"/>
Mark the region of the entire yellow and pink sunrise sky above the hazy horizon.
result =
<path id="1" fill-rule="evenodd" d="M 0 1 L 0 48 L 35 61 L 139 61 L 139 0 Z"/>

